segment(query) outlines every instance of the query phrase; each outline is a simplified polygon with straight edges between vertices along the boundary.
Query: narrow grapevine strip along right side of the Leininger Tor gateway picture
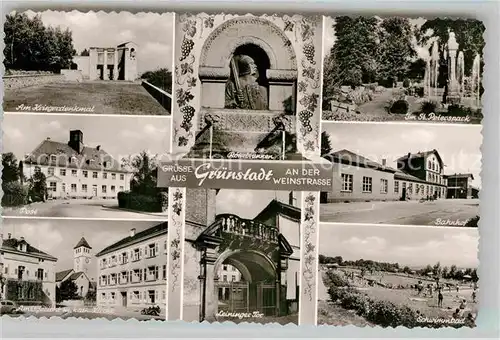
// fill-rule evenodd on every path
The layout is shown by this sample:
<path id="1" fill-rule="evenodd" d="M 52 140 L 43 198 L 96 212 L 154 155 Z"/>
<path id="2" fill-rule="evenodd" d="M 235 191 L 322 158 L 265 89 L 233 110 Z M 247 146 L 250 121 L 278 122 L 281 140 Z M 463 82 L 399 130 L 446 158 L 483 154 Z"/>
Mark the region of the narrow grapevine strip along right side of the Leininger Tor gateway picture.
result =
<path id="1" fill-rule="evenodd" d="M 303 214 L 303 233 L 304 242 L 301 246 L 304 247 L 302 256 L 303 270 L 302 276 L 304 278 L 305 287 L 303 289 L 309 301 L 314 299 L 314 287 L 316 286 L 316 245 L 314 241 L 314 234 L 316 233 L 317 225 L 317 211 L 316 211 L 316 193 L 309 192 L 304 199 Z"/>

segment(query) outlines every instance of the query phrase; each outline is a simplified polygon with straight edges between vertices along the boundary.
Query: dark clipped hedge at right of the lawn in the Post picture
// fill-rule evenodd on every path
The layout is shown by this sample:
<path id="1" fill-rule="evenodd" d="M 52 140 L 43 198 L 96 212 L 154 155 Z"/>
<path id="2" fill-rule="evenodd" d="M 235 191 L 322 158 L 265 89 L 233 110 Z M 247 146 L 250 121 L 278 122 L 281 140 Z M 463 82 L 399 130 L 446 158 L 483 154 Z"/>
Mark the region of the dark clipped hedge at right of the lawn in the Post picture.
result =
<path id="1" fill-rule="evenodd" d="M 145 212 L 163 212 L 167 206 L 168 194 L 158 192 L 155 195 L 137 194 L 130 191 L 118 193 L 118 206 L 124 209 L 145 211 Z"/>

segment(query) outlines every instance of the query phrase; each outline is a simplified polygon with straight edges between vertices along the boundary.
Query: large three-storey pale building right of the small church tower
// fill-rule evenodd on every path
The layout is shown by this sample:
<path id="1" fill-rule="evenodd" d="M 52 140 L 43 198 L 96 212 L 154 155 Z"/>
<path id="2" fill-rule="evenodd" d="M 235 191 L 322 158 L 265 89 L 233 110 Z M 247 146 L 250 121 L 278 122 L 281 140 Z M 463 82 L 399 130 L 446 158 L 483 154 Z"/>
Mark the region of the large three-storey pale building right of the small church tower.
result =
<path id="1" fill-rule="evenodd" d="M 127 309 L 160 306 L 167 289 L 167 223 L 130 235 L 96 254 L 97 305 Z"/>

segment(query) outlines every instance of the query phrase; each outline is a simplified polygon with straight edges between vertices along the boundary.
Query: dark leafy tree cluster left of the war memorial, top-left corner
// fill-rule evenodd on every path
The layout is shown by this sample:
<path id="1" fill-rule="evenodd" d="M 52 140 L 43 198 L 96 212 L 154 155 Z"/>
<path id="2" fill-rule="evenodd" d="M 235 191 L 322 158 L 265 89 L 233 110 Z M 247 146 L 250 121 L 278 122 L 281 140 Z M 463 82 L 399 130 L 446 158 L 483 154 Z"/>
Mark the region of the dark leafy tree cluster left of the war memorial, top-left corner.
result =
<path id="1" fill-rule="evenodd" d="M 69 68 L 76 54 L 71 31 L 45 27 L 40 15 L 7 15 L 4 33 L 8 69 L 59 71 Z"/>

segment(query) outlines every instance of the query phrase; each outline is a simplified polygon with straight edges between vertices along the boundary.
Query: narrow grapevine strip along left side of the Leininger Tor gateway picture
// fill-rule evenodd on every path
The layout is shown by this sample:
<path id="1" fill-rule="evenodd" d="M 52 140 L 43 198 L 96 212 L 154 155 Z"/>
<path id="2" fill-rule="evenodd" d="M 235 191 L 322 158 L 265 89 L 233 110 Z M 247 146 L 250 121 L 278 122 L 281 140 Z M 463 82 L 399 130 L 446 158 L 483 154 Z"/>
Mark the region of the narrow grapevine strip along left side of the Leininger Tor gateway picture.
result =
<path id="1" fill-rule="evenodd" d="M 173 292 L 179 282 L 179 276 L 181 274 L 181 233 L 182 226 L 184 223 L 183 212 L 183 199 L 184 195 L 181 189 L 176 188 L 173 193 L 173 202 L 172 202 L 172 226 L 169 227 L 169 232 L 174 233 L 174 237 L 170 241 L 170 261 L 172 261 L 170 267 L 170 273 L 172 274 L 172 282 L 167 282 L 167 284 L 171 287 L 171 291 Z"/>

